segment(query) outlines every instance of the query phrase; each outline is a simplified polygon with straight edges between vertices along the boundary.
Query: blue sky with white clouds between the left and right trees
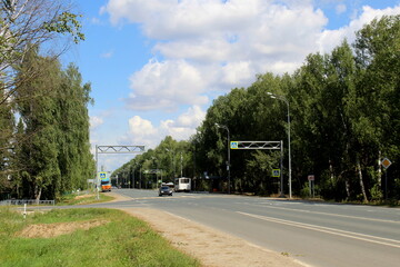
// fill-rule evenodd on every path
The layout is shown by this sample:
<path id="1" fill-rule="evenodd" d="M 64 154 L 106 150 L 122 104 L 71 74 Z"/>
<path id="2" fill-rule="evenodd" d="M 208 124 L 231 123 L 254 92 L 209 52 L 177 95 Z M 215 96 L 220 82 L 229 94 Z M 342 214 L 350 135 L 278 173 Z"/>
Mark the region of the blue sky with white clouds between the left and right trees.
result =
<path id="1" fill-rule="evenodd" d="M 213 99 L 292 73 L 400 0 L 76 0 L 86 40 L 62 56 L 91 83 L 92 152 L 188 140 Z M 134 155 L 99 155 L 112 171 Z"/>

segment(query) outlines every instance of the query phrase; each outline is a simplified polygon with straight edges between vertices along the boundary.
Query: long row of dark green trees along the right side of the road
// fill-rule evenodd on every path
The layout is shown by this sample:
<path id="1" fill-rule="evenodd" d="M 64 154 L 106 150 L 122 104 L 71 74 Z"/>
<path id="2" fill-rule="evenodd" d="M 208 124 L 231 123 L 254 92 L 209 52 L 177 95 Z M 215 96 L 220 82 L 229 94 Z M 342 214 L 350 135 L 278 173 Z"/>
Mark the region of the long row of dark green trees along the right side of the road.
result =
<path id="1" fill-rule="evenodd" d="M 308 176 L 313 175 L 316 194 L 326 199 L 398 200 L 399 97 L 400 16 L 386 16 L 359 30 L 353 43 L 343 40 L 330 53 L 309 55 L 292 75 L 258 75 L 250 87 L 217 98 L 197 134 L 172 150 L 183 155 L 184 176 L 196 177 L 200 187 L 227 191 L 227 129 L 230 140 L 283 140 L 288 194 L 289 113 L 294 196 L 308 196 Z M 136 171 L 158 161 L 163 176 L 172 178 L 179 158 L 166 148 L 173 142 L 166 138 L 114 175 L 138 177 Z M 392 162 L 388 169 L 383 158 Z M 279 161 L 279 151 L 232 149 L 231 191 L 278 194 L 279 180 L 271 172 Z"/>

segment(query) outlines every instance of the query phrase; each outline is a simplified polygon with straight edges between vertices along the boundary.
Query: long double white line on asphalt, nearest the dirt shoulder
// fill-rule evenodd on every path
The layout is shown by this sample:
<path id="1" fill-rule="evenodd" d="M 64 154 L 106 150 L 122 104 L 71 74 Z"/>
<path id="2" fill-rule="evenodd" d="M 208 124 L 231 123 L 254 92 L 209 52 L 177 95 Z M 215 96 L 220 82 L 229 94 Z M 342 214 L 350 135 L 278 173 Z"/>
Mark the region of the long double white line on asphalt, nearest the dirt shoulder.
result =
<path id="1" fill-rule="evenodd" d="M 283 224 L 283 225 L 294 226 L 294 227 L 304 228 L 304 229 L 309 229 L 309 230 L 321 231 L 321 233 L 327 233 L 327 234 L 331 234 L 331 235 L 336 235 L 336 236 L 342 236 L 342 237 L 358 239 L 358 240 L 362 240 L 362 241 L 369 241 L 369 243 L 374 243 L 374 244 L 379 244 L 379 245 L 400 248 L 400 240 L 376 237 L 376 236 L 370 236 L 370 235 L 363 235 L 363 234 L 353 233 L 353 231 L 346 231 L 346 230 L 340 230 L 340 229 L 334 229 L 334 228 L 329 228 L 329 227 L 323 227 L 323 226 L 302 224 L 302 222 L 297 222 L 297 221 L 291 221 L 291 220 L 277 219 L 277 218 L 261 216 L 261 215 L 252 215 L 252 214 L 247 214 L 247 212 L 241 212 L 241 211 L 236 211 L 236 212 L 246 215 L 249 217 L 253 217 L 257 219 L 261 219 L 261 220 L 267 220 L 267 221 L 272 221 L 272 222 L 277 222 L 277 224 Z M 390 243 L 394 243 L 394 244 L 390 244 Z M 399 244 L 399 245 L 397 245 L 397 244 Z"/>

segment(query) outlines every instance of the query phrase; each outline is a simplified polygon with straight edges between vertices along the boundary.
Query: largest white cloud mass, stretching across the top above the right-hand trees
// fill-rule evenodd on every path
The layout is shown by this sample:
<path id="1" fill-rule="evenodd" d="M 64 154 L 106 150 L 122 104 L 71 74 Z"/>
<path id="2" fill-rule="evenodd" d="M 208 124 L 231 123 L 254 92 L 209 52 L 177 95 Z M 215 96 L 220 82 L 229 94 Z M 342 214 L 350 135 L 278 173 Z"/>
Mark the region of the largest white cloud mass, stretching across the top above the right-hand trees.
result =
<path id="1" fill-rule="evenodd" d="M 354 20 L 326 30 L 316 1 L 109 0 L 102 13 L 114 24 L 139 23 L 156 41 L 150 60 L 130 77 L 126 102 L 134 110 L 173 111 L 208 105 L 210 92 L 250 86 L 257 73 L 292 72 L 311 52 L 329 52 L 377 16 L 399 8 L 363 7 Z M 337 12 L 347 10 L 338 3 Z M 217 95 L 218 95 L 217 93 Z"/>

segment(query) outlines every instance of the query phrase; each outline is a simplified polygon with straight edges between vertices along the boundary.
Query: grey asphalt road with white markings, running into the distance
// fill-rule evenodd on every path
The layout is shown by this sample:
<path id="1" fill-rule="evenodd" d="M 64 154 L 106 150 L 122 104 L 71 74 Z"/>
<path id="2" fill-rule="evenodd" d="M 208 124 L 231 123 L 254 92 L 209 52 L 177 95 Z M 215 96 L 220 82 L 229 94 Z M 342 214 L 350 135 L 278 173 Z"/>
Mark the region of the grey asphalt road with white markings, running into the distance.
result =
<path id="1" fill-rule="evenodd" d="M 400 266 L 400 209 L 288 199 L 118 189 L 101 207 L 164 210 L 312 266 Z M 212 245 L 210 246 L 212 249 Z"/>

